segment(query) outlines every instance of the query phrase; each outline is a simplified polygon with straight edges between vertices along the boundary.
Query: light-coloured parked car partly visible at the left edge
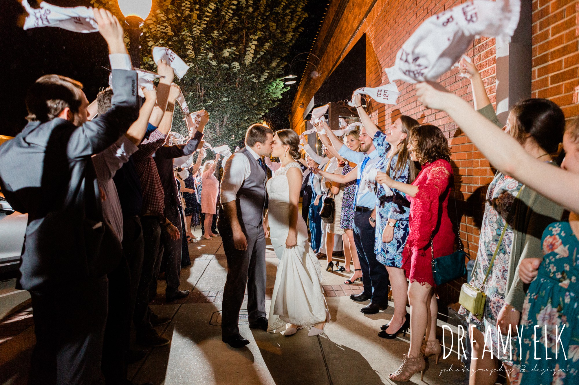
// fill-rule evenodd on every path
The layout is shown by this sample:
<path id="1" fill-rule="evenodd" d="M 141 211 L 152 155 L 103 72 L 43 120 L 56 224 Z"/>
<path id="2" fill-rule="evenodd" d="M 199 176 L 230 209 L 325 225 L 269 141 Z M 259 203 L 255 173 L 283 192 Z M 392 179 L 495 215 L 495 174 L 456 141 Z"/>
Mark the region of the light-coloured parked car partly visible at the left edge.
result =
<path id="1" fill-rule="evenodd" d="M 19 268 L 27 223 L 28 214 L 14 211 L 0 191 L 0 273 Z"/>

